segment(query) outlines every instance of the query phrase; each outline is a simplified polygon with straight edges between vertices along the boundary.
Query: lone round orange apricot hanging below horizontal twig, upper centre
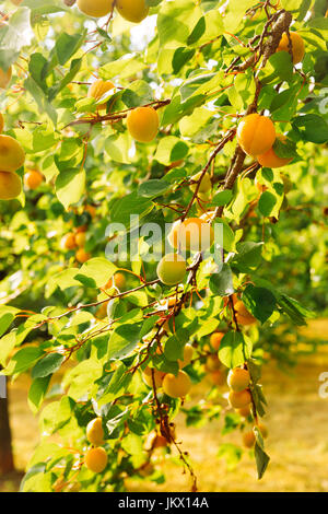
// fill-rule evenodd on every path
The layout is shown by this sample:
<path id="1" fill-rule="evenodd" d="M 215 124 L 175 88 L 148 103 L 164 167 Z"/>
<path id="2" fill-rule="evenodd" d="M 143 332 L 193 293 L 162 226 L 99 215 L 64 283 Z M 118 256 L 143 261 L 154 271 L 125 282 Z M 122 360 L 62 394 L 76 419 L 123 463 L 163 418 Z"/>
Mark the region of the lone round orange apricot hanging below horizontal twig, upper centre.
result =
<path id="1" fill-rule="evenodd" d="M 149 143 L 157 136 L 159 114 L 153 107 L 137 107 L 128 114 L 127 126 L 136 141 Z"/>

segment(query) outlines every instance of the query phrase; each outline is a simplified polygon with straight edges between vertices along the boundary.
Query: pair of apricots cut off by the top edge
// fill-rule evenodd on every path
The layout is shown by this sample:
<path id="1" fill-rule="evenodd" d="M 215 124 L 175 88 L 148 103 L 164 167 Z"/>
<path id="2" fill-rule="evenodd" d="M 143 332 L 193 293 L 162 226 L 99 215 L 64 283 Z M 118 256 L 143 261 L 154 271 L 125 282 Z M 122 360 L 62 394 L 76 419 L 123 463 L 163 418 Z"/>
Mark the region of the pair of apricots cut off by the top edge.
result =
<path id="1" fill-rule="evenodd" d="M 78 8 L 91 17 L 103 17 L 117 12 L 127 21 L 140 23 L 149 13 L 145 0 L 78 0 Z"/>

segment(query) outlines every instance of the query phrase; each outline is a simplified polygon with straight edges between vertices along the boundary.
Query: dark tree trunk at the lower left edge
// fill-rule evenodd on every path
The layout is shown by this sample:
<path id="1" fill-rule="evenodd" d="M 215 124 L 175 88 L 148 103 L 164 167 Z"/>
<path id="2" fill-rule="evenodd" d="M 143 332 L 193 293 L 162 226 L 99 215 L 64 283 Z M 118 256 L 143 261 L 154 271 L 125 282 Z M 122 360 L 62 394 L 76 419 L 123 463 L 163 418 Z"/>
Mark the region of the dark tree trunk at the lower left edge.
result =
<path id="1" fill-rule="evenodd" d="M 1 379 L 3 379 L 3 376 L 0 376 L 0 381 Z M 14 462 L 11 445 L 11 430 L 9 423 L 7 385 L 3 386 L 3 389 L 5 392 L 7 398 L 2 398 L 1 396 L 3 395 L 0 394 L 0 476 L 14 470 Z"/>

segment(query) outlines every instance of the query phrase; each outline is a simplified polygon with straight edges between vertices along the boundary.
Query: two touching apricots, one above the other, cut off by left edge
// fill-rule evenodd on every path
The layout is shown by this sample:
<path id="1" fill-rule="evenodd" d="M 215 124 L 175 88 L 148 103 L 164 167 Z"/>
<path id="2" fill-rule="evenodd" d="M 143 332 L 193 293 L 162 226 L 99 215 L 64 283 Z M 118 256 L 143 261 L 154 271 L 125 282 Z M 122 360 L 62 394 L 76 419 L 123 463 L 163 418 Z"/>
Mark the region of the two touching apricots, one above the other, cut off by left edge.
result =
<path id="1" fill-rule="evenodd" d="M 15 172 L 23 166 L 25 152 L 14 138 L 2 133 L 3 127 L 0 114 L 0 200 L 12 200 L 22 192 L 22 180 Z"/>

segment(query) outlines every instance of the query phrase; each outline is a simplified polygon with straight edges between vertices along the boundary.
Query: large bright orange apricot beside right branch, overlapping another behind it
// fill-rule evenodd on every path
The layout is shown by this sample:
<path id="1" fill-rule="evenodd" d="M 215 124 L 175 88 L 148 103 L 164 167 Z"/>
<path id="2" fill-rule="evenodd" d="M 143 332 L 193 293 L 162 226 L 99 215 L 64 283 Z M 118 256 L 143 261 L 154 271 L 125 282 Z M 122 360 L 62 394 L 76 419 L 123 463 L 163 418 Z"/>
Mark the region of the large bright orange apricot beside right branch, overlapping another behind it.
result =
<path id="1" fill-rule="evenodd" d="M 276 141 L 274 125 L 266 116 L 249 114 L 238 125 L 237 141 L 247 155 L 261 155 L 270 150 Z"/>

